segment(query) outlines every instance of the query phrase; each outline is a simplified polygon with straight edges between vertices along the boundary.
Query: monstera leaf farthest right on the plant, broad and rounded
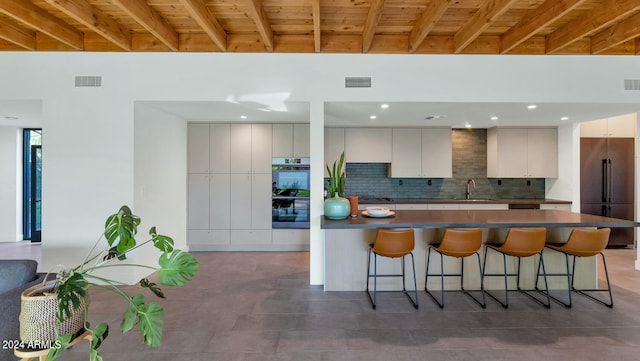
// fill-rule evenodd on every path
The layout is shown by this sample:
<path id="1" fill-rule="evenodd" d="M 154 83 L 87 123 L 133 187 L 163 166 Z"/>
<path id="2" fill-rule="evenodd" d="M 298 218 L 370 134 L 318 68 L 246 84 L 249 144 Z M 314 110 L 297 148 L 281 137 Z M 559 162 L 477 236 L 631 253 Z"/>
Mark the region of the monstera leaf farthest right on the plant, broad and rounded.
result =
<path id="1" fill-rule="evenodd" d="M 198 272 L 198 260 L 179 249 L 162 254 L 158 262 L 158 280 L 166 286 L 182 286 Z"/>

